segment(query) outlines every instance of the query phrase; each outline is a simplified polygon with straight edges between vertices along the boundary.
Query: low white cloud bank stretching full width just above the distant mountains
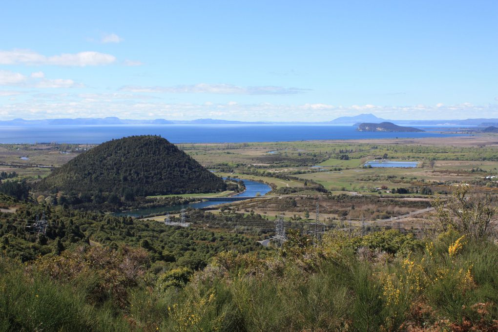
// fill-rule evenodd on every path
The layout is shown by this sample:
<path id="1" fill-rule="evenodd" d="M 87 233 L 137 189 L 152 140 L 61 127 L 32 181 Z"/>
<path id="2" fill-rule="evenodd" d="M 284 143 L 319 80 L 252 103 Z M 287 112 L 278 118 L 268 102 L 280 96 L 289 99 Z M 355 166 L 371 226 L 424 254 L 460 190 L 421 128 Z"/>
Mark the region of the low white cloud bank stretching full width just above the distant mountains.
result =
<path id="1" fill-rule="evenodd" d="M 59 82 L 70 85 L 70 82 Z M 55 84 L 55 83 L 54 83 Z M 48 85 L 48 83 L 47 83 Z M 1 96 L 1 95 L 0 95 Z M 0 106 L 4 119 L 57 117 L 103 117 L 146 119 L 196 119 L 220 118 L 242 121 L 330 121 L 339 116 L 373 113 L 387 119 L 462 119 L 468 114 L 474 117 L 497 117 L 498 105 L 415 105 L 376 106 L 329 104 L 240 104 L 235 102 L 213 103 L 165 103 L 154 96 L 126 93 L 112 94 L 38 94 L 22 102 Z M 285 116 L 283 116 L 285 115 Z"/>

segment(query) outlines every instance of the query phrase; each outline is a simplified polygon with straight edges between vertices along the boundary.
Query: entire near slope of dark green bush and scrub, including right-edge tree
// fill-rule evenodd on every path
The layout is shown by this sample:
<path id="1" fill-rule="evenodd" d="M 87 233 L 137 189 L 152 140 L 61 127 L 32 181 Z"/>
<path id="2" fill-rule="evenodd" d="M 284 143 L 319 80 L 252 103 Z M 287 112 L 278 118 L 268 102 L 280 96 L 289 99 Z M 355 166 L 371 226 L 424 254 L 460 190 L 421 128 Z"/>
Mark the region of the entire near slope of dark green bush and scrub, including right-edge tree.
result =
<path id="1" fill-rule="evenodd" d="M 2 200 L 18 220 L 41 208 Z M 36 236 L 5 214 L 0 331 L 497 331 L 496 206 L 466 186 L 435 206 L 425 238 L 288 230 L 271 250 L 60 206 Z"/>

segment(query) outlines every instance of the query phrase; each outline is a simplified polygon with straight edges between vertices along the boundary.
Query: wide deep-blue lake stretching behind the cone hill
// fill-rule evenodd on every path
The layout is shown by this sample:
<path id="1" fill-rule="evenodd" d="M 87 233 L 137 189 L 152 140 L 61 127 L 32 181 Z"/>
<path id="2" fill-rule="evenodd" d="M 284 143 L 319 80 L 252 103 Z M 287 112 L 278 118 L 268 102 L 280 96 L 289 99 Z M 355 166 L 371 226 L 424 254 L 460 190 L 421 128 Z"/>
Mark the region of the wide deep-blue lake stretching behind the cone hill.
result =
<path id="1" fill-rule="evenodd" d="M 432 128 L 427 130 L 444 130 Z M 1 126 L 0 143 L 100 144 L 130 135 L 160 135 L 172 143 L 275 142 L 313 139 L 447 137 L 426 132 L 361 132 L 355 126 L 334 125 L 114 125 L 114 126 Z"/>

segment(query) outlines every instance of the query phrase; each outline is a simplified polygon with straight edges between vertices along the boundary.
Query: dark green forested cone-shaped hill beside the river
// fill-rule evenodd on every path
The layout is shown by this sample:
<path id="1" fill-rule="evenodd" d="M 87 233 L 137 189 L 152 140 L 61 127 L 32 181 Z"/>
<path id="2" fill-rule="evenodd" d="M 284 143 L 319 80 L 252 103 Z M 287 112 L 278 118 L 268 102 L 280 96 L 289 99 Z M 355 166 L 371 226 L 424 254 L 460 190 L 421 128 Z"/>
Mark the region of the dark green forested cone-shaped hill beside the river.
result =
<path id="1" fill-rule="evenodd" d="M 223 191 L 224 181 L 159 136 L 130 136 L 105 142 L 43 179 L 40 191 L 82 195 L 149 195 Z"/>

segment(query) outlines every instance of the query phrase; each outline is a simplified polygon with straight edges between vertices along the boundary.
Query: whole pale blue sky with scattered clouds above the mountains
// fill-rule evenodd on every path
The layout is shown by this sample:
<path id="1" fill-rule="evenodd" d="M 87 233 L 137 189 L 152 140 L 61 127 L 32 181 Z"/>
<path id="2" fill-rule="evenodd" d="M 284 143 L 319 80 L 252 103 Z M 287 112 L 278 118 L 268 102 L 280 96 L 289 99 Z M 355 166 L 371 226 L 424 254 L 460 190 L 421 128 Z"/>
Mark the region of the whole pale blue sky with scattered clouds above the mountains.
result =
<path id="1" fill-rule="evenodd" d="M 6 1 L 0 116 L 498 117 L 497 16 L 495 0 Z"/>

